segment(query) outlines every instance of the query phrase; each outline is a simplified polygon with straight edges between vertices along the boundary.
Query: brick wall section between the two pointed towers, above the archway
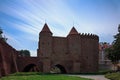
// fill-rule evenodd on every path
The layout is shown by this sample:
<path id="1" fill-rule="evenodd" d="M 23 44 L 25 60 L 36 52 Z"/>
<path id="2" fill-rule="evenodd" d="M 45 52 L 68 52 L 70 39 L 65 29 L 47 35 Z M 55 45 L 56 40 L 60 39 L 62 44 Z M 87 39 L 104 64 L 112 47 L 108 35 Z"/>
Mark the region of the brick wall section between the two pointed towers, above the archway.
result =
<path id="1" fill-rule="evenodd" d="M 59 61 L 62 59 L 65 59 L 66 54 L 68 53 L 68 49 L 67 49 L 67 39 L 66 38 L 60 38 L 60 37 L 53 37 L 53 42 L 52 42 L 53 46 L 53 50 L 52 50 L 52 57 L 51 58 L 54 61 Z"/>

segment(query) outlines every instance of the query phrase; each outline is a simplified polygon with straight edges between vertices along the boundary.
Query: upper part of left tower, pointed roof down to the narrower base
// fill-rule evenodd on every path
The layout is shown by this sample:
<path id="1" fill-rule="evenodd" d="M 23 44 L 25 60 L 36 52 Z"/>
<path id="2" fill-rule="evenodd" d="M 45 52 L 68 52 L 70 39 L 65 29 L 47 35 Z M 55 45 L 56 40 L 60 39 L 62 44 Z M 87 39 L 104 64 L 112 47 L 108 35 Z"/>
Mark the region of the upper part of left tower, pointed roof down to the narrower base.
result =
<path id="1" fill-rule="evenodd" d="M 50 31 L 47 23 L 44 24 L 39 34 L 38 56 L 48 57 L 52 48 L 52 32 Z"/>

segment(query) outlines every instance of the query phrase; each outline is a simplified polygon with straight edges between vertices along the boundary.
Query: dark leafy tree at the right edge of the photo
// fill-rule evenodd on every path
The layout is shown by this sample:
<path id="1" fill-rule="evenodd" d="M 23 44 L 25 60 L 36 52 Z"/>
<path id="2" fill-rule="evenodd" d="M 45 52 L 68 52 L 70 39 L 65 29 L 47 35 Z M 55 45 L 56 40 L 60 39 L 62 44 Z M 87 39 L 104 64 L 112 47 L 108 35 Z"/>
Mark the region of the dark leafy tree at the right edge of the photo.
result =
<path id="1" fill-rule="evenodd" d="M 115 40 L 111 48 L 106 49 L 107 57 L 111 60 L 114 66 L 117 66 L 120 60 L 120 25 L 118 26 L 118 33 L 114 36 Z"/>

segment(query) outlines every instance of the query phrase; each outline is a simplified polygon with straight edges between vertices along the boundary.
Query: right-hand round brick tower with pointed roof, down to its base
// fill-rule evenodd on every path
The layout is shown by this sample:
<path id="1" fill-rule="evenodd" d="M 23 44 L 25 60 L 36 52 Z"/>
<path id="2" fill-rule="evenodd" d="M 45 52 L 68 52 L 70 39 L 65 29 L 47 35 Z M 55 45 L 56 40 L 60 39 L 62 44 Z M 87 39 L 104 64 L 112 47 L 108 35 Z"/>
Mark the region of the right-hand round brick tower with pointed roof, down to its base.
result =
<path id="1" fill-rule="evenodd" d="M 68 36 L 68 52 L 73 57 L 73 72 L 80 72 L 81 40 L 78 31 L 73 27 Z"/>

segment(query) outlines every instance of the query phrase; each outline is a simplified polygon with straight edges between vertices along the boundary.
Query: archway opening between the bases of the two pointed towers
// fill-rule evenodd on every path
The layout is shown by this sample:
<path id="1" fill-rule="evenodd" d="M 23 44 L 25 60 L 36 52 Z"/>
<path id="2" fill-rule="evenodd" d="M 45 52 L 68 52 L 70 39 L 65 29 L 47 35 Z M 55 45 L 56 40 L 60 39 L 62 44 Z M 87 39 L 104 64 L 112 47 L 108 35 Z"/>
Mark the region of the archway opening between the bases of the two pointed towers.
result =
<path id="1" fill-rule="evenodd" d="M 62 73 L 62 74 L 67 73 L 66 70 L 65 70 L 65 68 L 64 68 L 62 65 L 60 65 L 60 64 L 55 65 L 55 66 L 52 68 L 51 71 L 52 71 L 53 73 Z"/>

